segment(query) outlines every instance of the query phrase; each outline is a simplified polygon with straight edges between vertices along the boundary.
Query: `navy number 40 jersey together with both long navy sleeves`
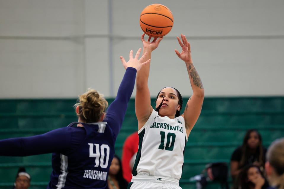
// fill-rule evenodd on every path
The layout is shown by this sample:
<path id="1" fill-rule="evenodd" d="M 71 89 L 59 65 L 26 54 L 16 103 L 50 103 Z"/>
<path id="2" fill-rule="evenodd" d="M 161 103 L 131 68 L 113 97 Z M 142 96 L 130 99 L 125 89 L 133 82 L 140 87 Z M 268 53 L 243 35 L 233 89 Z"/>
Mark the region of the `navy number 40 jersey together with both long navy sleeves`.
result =
<path id="1" fill-rule="evenodd" d="M 103 122 L 78 122 L 45 134 L 0 140 L 0 156 L 52 154 L 48 189 L 107 188 L 107 175 L 114 144 L 133 92 L 135 68 L 127 68 L 115 100 Z"/>

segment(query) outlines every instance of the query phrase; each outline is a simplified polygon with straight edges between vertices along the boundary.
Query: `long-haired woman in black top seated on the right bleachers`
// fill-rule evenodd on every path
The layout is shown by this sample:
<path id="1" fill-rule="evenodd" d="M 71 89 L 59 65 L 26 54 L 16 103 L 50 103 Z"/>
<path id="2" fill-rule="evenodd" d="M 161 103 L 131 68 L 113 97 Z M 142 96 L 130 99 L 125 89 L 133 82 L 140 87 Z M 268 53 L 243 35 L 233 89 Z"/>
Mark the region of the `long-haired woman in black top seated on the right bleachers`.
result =
<path id="1" fill-rule="evenodd" d="M 231 157 L 231 175 L 236 179 L 241 169 L 246 165 L 253 164 L 264 170 L 266 149 L 262 146 L 262 139 L 259 132 L 250 129 L 246 132 L 243 145 L 238 147 Z"/>

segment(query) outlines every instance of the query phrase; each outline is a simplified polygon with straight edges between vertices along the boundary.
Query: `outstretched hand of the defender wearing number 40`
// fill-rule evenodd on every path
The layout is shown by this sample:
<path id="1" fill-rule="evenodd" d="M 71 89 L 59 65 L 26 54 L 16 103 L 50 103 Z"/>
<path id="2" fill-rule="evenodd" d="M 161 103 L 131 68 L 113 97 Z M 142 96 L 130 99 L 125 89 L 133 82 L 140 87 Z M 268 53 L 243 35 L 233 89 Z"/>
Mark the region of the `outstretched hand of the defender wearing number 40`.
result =
<path id="1" fill-rule="evenodd" d="M 140 52 L 141 52 L 141 48 L 138 49 L 135 57 L 133 58 L 133 51 L 131 50 L 130 53 L 129 53 L 129 61 L 128 62 L 126 62 L 124 60 L 124 58 L 122 56 L 120 56 L 120 60 L 123 64 L 123 67 L 125 69 L 128 68 L 128 67 L 132 67 L 132 68 L 135 68 L 137 71 L 139 71 L 142 66 L 144 66 L 145 64 L 149 64 L 150 59 L 147 60 L 146 62 L 142 62 L 143 59 L 145 58 L 145 55 L 147 55 L 148 52 L 145 52 L 144 55 L 140 59 L 138 59 Z"/>

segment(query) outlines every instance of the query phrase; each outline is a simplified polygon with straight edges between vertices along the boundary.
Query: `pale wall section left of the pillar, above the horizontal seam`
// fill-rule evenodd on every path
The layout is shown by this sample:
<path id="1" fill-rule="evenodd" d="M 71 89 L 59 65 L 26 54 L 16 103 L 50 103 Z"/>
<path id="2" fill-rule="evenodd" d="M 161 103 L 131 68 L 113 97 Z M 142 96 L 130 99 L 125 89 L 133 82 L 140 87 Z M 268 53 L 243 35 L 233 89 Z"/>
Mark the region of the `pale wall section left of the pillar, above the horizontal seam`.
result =
<path id="1" fill-rule="evenodd" d="M 84 1 L 1 0 L 2 36 L 73 36 L 84 31 Z"/>

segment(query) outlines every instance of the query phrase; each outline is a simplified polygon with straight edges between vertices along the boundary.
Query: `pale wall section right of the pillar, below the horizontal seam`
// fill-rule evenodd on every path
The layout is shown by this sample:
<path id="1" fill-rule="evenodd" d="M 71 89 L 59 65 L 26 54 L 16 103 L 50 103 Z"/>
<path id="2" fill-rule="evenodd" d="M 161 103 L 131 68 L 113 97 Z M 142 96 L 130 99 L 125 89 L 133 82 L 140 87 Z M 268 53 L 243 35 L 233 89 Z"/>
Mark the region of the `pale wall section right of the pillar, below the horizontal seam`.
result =
<path id="1" fill-rule="evenodd" d="M 190 40 L 190 39 L 189 39 Z M 207 96 L 283 95 L 284 39 L 271 40 L 190 40 L 192 59 L 203 81 Z M 116 43 L 114 56 L 123 56 L 142 43 L 125 40 Z M 123 47 L 123 48 L 122 48 Z M 134 47 L 134 48 L 131 48 Z M 174 52 L 180 51 L 175 40 L 163 40 L 152 52 L 149 88 L 152 96 L 162 87 L 177 88 L 182 95 L 192 94 L 184 62 Z M 267 50 L 269 49 L 269 51 Z M 121 53 L 120 53 L 121 54 Z M 277 57 L 277 58 L 275 58 Z M 120 65 L 116 70 L 122 73 Z M 115 83 L 118 88 L 119 82 Z"/>

